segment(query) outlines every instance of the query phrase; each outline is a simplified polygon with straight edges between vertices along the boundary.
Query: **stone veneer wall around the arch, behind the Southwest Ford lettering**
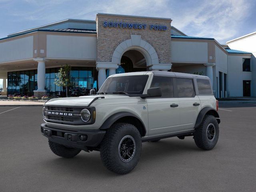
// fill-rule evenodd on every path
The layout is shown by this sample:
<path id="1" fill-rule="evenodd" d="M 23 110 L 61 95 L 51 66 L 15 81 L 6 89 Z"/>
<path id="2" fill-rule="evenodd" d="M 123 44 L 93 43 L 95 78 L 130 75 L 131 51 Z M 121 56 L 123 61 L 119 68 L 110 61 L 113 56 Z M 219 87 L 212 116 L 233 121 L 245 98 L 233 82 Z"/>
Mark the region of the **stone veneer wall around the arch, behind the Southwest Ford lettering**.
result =
<path id="1" fill-rule="evenodd" d="M 147 24 L 146 29 L 129 29 L 129 28 L 110 28 L 104 27 L 104 21 L 127 22 Z M 171 63 L 171 20 L 165 21 L 160 19 L 152 20 L 146 18 L 112 18 L 104 15 L 97 15 L 97 61 L 111 62 L 112 54 L 115 48 L 124 40 L 130 39 L 131 34 L 141 35 L 141 38 L 151 44 L 159 58 L 159 63 Z M 150 30 L 150 24 L 165 25 L 166 31 Z"/>

